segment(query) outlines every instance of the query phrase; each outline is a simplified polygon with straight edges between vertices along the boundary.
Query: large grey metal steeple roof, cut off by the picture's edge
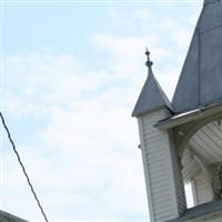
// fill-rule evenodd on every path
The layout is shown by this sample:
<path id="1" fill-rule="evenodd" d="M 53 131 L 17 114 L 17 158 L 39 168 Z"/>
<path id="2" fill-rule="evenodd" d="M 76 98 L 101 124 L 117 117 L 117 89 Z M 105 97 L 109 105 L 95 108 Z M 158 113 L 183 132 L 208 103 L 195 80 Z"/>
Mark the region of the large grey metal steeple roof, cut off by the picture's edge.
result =
<path id="1" fill-rule="evenodd" d="M 204 0 L 175 89 L 175 112 L 222 102 L 222 0 Z"/>

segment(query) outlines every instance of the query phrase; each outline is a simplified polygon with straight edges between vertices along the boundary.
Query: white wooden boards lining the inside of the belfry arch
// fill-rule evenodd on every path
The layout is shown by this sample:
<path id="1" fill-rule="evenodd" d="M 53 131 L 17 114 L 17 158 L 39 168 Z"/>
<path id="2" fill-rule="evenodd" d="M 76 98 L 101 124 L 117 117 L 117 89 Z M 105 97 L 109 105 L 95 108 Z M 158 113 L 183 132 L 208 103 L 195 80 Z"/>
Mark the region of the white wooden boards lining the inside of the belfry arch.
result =
<path id="1" fill-rule="evenodd" d="M 189 153 L 191 148 L 191 153 Z M 222 162 L 222 125 L 212 121 L 202 127 L 189 141 L 182 158 L 182 174 L 185 182 L 193 181 L 192 188 L 195 193 L 195 205 L 213 200 L 213 189 L 206 176 L 204 176 L 202 165 L 192 153 L 196 155 L 204 165 L 209 167 Z M 212 172 L 213 173 L 213 172 Z M 215 186 L 215 184 L 214 184 Z"/>

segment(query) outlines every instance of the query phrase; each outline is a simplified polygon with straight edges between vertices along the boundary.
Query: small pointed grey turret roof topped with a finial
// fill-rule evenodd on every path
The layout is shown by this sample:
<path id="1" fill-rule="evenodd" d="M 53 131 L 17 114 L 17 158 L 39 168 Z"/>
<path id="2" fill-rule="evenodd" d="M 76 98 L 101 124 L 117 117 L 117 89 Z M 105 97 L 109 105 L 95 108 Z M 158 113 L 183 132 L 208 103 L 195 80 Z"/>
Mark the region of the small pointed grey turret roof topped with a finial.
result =
<path id="1" fill-rule="evenodd" d="M 152 62 L 149 58 L 150 52 L 147 51 L 145 54 L 148 56 L 145 63 L 148 65 L 148 78 L 132 112 L 133 117 L 140 117 L 161 107 L 171 109 L 170 101 L 152 72 Z"/>

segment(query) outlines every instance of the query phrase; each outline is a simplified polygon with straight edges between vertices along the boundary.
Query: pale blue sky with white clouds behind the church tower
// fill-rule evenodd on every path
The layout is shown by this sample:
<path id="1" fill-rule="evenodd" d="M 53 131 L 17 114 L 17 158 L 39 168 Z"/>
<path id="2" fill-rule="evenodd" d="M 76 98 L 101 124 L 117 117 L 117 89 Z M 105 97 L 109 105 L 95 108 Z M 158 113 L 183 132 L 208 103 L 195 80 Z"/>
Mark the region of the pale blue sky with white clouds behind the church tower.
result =
<path id="1" fill-rule="evenodd" d="M 172 99 L 202 3 L 1 0 L 1 111 L 50 221 L 149 221 L 144 51 Z M 3 129 L 0 184 L 1 210 L 43 221 Z"/>

